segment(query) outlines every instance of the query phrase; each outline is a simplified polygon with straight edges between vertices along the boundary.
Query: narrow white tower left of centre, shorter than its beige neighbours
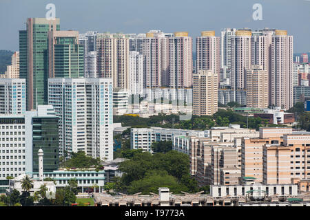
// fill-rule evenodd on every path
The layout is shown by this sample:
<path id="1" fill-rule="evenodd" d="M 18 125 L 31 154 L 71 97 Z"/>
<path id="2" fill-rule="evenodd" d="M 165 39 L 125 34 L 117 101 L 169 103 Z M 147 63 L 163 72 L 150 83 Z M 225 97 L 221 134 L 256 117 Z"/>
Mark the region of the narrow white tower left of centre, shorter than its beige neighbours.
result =
<path id="1" fill-rule="evenodd" d="M 143 95 L 143 55 L 139 52 L 130 52 L 129 93 Z"/>

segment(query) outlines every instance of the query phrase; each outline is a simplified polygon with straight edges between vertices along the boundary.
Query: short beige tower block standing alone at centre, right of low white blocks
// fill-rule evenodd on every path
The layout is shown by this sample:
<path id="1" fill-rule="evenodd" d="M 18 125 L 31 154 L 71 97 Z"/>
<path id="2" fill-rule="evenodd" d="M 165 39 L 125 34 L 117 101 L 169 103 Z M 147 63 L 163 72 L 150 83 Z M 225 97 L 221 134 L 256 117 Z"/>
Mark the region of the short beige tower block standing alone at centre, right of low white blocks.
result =
<path id="1" fill-rule="evenodd" d="M 211 70 L 193 75 L 193 114 L 213 115 L 218 111 L 218 76 Z"/>

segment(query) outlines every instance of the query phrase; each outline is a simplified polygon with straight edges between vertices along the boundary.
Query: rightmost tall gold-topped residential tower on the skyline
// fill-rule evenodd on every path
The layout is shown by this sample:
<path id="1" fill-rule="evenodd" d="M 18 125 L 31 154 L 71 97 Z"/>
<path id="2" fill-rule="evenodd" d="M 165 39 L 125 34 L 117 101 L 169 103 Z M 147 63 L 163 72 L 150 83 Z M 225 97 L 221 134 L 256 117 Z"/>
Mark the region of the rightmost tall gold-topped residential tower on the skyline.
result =
<path id="1" fill-rule="evenodd" d="M 276 30 L 271 43 L 271 80 L 269 105 L 293 107 L 293 36 Z"/>

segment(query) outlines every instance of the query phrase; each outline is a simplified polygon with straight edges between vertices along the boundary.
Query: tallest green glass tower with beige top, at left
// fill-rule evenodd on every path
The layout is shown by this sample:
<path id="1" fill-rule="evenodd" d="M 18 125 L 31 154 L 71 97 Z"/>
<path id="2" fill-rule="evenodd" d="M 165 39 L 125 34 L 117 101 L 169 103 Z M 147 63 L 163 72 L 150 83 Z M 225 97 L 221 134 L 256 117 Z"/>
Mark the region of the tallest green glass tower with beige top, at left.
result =
<path id="1" fill-rule="evenodd" d="M 26 79 L 27 110 L 48 104 L 48 32 L 60 30 L 60 19 L 30 18 L 19 31 L 19 78 Z"/>

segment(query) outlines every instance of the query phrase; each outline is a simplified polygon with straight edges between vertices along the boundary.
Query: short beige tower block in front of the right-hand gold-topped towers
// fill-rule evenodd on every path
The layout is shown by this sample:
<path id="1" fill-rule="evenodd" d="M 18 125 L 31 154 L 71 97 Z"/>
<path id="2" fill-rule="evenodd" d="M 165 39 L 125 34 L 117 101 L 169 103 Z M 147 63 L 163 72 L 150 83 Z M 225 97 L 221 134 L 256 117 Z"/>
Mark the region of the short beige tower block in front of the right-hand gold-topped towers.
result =
<path id="1" fill-rule="evenodd" d="M 247 69 L 247 107 L 265 109 L 269 106 L 269 76 L 262 65 Z"/>

